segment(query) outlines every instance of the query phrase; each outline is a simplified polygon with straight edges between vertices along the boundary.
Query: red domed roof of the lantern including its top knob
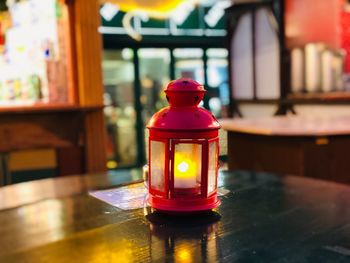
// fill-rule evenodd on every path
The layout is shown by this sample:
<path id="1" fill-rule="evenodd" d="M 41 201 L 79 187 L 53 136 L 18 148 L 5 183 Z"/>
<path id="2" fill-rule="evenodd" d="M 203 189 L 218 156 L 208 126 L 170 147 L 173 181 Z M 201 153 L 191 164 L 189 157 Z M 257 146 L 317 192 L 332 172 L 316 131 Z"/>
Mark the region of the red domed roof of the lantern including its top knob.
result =
<path id="1" fill-rule="evenodd" d="M 198 104 L 204 97 L 205 89 L 191 79 L 172 81 L 165 88 L 169 107 L 155 113 L 147 128 L 167 131 L 218 130 L 220 124 L 206 109 Z"/>

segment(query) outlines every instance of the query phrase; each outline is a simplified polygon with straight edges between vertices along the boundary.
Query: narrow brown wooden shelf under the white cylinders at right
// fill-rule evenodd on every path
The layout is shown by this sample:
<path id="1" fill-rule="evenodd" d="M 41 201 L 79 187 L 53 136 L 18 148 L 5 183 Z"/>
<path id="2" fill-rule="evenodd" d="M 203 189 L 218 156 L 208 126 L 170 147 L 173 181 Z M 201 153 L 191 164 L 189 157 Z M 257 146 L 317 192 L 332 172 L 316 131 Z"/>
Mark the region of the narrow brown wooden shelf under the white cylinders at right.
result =
<path id="1" fill-rule="evenodd" d="M 350 91 L 290 94 L 287 101 L 295 104 L 350 104 Z"/>

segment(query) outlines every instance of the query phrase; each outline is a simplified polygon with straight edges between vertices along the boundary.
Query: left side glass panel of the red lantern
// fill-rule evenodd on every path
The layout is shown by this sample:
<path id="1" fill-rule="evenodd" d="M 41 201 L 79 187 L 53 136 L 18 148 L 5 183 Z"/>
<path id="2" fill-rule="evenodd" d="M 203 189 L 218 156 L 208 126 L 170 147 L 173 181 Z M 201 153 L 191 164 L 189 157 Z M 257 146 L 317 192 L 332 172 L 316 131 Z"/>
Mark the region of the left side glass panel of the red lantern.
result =
<path id="1" fill-rule="evenodd" d="M 151 141 L 150 151 L 151 188 L 164 192 L 165 143 Z"/>

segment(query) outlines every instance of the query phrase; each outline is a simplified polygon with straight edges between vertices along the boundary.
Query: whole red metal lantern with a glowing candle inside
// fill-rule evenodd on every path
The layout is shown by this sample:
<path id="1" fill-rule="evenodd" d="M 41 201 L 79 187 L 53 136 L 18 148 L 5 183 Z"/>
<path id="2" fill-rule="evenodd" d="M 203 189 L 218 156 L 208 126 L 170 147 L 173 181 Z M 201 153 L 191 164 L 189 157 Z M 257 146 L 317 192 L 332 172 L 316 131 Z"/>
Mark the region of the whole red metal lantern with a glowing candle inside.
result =
<path id="1" fill-rule="evenodd" d="M 169 107 L 153 115 L 149 129 L 149 199 L 167 212 L 217 207 L 220 124 L 198 104 L 205 89 L 191 79 L 172 81 L 164 90 Z"/>

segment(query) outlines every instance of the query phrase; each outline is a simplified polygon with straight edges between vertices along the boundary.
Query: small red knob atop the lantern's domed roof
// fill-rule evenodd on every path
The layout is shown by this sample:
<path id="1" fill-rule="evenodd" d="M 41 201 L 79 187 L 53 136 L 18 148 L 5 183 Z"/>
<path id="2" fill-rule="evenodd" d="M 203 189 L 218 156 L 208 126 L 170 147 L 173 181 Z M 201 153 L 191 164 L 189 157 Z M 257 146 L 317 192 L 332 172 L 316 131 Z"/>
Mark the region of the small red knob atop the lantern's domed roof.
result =
<path id="1" fill-rule="evenodd" d="M 164 92 L 171 107 L 196 107 L 205 89 L 192 79 L 181 78 L 170 82 Z"/>

